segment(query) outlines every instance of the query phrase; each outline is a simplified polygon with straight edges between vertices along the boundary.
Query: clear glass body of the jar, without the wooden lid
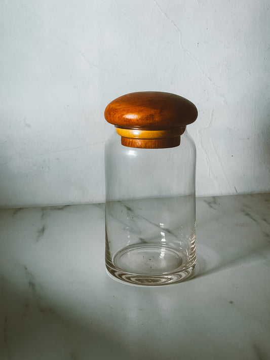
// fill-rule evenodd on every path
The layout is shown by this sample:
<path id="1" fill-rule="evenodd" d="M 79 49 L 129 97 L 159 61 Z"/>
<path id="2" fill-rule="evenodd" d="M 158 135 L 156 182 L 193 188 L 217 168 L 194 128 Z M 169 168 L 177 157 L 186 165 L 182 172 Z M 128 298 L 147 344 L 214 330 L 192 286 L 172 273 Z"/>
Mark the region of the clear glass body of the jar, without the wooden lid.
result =
<path id="1" fill-rule="evenodd" d="M 187 131 L 180 145 L 105 146 L 105 263 L 137 285 L 164 285 L 191 276 L 195 250 L 196 147 Z"/>

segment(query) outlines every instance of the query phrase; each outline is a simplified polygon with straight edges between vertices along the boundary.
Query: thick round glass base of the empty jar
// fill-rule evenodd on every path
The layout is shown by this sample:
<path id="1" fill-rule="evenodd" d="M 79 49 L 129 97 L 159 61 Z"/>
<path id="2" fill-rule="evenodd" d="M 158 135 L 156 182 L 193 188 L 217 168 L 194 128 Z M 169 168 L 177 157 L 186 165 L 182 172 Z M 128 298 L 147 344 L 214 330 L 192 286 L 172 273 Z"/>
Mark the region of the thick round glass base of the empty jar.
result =
<path id="1" fill-rule="evenodd" d="M 184 264 L 180 251 L 162 246 L 130 246 L 106 261 L 108 272 L 121 281 L 136 285 L 167 285 L 192 277 L 196 258 Z"/>

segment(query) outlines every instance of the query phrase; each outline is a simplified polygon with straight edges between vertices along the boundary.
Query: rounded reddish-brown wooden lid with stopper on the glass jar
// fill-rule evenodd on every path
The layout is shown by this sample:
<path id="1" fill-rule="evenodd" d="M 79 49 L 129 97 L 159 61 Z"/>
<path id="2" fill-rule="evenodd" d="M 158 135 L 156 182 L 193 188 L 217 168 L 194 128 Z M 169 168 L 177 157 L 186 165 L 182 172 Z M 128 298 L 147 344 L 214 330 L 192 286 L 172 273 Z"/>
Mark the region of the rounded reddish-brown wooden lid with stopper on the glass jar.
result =
<path id="1" fill-rule="evenodd" d="M 175 147 L 198 111 L 175 94 L 145 91 L 120 96 L 105 109 L 105 119 L 121 135 L 122 145 L 141 148 Z"/>

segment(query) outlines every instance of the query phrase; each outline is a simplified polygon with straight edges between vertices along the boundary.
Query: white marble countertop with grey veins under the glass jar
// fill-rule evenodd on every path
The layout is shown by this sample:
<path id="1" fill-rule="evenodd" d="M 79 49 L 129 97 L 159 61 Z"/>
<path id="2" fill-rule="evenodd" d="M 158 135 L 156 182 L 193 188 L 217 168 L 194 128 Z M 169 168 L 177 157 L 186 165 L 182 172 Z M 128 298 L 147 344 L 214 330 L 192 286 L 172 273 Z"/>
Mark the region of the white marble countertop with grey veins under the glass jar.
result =
<path id="1" fill-rule="evenodd" d="M 198 198 L 198 273 L 155 288 L 106 274 L 104 205 L 1 210 L 0 359 L 269 359 L 269 210 Z"/>

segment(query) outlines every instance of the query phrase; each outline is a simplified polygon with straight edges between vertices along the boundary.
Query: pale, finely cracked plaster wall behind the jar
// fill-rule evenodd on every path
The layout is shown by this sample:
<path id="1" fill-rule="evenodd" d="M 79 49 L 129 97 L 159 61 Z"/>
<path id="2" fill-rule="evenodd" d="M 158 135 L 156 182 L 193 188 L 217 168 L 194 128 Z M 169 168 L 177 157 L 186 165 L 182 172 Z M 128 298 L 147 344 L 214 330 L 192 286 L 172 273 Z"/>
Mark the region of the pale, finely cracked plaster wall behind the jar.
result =
<path id="1" fill-rule="evenodd" d="M 104 108 L 146 90 L 198 107 L 198 195 L 269 191 L 270 1 L 0 7 L 1 206 L 104 201 Z"/>

